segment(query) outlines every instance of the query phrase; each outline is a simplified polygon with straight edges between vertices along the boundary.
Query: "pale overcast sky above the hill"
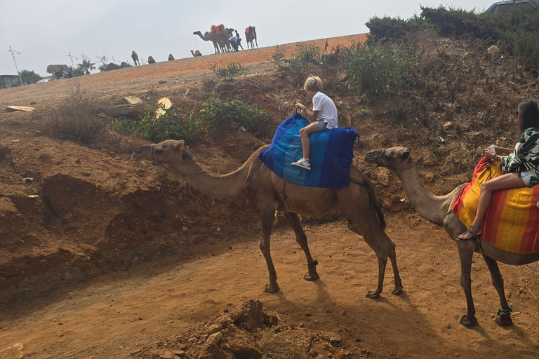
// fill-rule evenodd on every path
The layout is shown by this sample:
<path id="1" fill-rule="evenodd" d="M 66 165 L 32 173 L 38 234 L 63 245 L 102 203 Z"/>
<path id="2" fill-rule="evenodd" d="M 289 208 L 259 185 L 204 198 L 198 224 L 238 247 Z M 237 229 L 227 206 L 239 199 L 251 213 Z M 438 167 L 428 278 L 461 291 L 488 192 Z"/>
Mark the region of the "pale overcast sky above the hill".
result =
<path id="1" fill-rule="evenodd" d="M 420 5 L 484 11 L 493 0 L 0 0 L 0 74 L 34 70 L 48 76 L 50 64 L 76 65 L 85 54 L 91 62 L 133 62 L 131 51 L 147 61 L 203 55 L 213 46 L 203 34 L 211 25 L 238 29 L 243 46 L 245 28 L 256 27 L 258 46 L 363 34 L 373 16 L 408 19 Z M 98 67 L 98 65 L 96 65 Z"/>

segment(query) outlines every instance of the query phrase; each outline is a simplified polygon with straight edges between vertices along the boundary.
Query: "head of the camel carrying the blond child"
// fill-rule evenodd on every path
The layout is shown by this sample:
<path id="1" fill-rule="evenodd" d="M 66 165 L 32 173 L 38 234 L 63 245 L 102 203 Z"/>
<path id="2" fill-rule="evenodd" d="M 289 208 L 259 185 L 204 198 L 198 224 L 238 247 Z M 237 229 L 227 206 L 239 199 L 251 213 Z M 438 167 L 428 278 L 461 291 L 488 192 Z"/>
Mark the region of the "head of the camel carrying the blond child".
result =
<path id="1" fill-rule="evenodd" d="M 193 159 L 185 149 L 183 140 L 166 140 L 158 144 L 145 144 L 135 149 L 131 158 L 135 162 L 147 160 L 168 163 L 169 165 L 179 165 Z"/>

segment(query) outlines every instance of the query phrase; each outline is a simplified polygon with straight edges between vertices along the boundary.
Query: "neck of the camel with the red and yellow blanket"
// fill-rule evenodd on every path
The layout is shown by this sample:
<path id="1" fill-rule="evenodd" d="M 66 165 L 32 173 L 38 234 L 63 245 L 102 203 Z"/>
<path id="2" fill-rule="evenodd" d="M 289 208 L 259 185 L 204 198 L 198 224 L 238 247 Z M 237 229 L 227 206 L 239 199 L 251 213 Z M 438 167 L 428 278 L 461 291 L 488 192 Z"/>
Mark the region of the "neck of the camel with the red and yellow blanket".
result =
<path id="1" fill-rule="evenodd" d="M 394 172 L 401 180 L 404 191 L 406 191 L 411 205 L 418 214 L 429 222 L 443 226 L 444 217 L 446 217 L 447 212 L 450 210 L 451 203 L 453 203 L 453 199 L 457 196 L 458 191 L 460 191 L 460 187 L 453 189 L 450 194 L 446 194 L 445 196 L 434 196 L 421 182 L 415 167 L 394 170 Z"/>

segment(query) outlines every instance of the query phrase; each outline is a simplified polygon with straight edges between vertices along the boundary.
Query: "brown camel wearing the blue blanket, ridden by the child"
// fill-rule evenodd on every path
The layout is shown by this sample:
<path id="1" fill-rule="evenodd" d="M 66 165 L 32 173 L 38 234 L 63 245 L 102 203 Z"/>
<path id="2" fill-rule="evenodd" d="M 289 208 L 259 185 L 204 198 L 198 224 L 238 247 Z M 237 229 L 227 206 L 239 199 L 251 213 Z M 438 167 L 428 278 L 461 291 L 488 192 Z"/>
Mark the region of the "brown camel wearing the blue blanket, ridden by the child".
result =
<path id="1" fill-rule="evenodd" d="M 262 235 L 260 250 L 266 259 L 270 283 L 264 292 L 279 290 L 277 273 L 270 254 L 270 234 L 275 211 L 284 212 L 290 222 L 295 239 L 307 258 L 308 272 L 305 280 L 317 280 L 318 262 L 312 259 L 307 245 L 307 236 L 302 229 L 299 215 L 318 216 L 340 205 L 348 219 L 348 228 L 364 237 L 378 258 L 378 285 L 366 294 L 378 298 L 382 292 L 387 257 L 390 257 L 394 273 L 393 294 L 402 290 L 401 278 L 397 268 L 395 245 L 384 232 L 385 220 L 378 207 L 371 181 L 354 165 L 350 165 L 351 182 L 342 189 L 302 187 L 290 184 L 274 174 L 260 162 L 258 155 L 267 146 L 260 147 L 238 170 L 227 175 L 210 175 L 194 162 L 193 156 L 185 149 L 182 140 L 166 140 L 159 144 L 147 144 L 133 152 L 135 161 L 147 160 L 166 163 L 197 191 L 215 198 L 249 198 L 257 203 L 262 215 Z"/>

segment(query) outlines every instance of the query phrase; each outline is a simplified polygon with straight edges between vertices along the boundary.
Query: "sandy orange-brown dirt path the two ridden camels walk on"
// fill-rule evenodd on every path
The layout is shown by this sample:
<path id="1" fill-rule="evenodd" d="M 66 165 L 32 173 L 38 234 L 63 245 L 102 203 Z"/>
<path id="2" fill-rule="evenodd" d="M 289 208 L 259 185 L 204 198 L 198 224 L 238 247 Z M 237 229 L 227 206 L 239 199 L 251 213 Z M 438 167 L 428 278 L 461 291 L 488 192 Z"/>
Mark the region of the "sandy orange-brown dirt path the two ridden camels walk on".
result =
<path id="1" fill-rule="evenodd" d="M 20 351 L 6 351 L 17 343 L 24 358 L 129 358 L 245 299 L 259 299 L 288 325 L 338 334 L 343 345 L 364 348 L 372 358 L 536 358 L 536 266 L 501 266 L 515 309 L 514 326 L 503 328 L 493 321 L 497 294 L 476 255 L 472 290 L 479 325 L 465 329 L 458 324 L 465 298 L 453 242 L 416 216 L 390 217 L 388 223 L 405 286 L 399 296 L 390 294 L 389 270 L 382 297 L 364 297 L 375 286 L 375 255 L 343 223 L 306 226 L 321 278 L 303 280 L 305 259 L 283 225 L 272 236 L 277 294 L 261 290 L 267 269 L 256 241 L 239 238 L 236 244 L 231 238 L 189 262 L 149 262 L 1 313 L 0 358 L 17 358 L 7 353 Z M 314 315 L 305 316 L 310 307 Z M 340 358 L 339 347 L 332 350 Z"/>

